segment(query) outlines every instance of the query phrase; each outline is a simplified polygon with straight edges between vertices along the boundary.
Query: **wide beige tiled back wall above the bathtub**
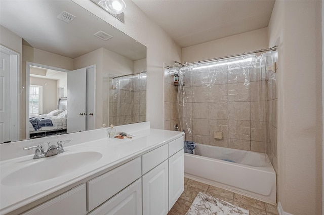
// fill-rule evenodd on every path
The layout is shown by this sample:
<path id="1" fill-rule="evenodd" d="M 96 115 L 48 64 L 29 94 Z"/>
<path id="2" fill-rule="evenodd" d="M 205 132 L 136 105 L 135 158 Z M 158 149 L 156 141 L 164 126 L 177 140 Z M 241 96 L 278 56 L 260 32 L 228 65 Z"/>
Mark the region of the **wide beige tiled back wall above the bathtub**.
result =
<path id="1" fill-rule="evenodd" d="M 186 139 L 220 147 L 266 152 L 265 82 L 256 68 L 186 71 L 181 108 Z M 214 132 L 222 132 L 215 139 Z"/>

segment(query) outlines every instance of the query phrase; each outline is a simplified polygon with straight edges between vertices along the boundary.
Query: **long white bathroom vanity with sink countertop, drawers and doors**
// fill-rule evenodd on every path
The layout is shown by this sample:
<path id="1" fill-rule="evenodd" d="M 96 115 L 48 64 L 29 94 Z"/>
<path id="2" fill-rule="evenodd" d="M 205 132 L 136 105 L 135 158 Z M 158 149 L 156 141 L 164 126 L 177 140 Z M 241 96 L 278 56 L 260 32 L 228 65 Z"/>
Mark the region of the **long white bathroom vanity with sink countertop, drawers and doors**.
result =
<path id="1" fill-rule="evenodd" d="M 102 128 L 0 145 L 0 214 L 167 214 L 184 189 L 183 133 L 149 122 L 116 129 L 135 137 Z M 51 157 L 22 150 L 67 139 Z"/>

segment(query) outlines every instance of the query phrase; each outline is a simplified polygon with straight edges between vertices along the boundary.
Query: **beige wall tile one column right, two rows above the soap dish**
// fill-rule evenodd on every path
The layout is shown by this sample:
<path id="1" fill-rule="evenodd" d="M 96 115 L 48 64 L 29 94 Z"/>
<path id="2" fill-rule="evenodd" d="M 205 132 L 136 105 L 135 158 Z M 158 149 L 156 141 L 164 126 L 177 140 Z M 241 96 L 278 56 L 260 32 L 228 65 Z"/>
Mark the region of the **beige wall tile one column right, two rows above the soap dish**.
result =
<path id="1" fill-rule="evenodd" d="M 229 102 L 250 101 L 250 83 L 249 82 L 229 83 L 228 101 Z"/>

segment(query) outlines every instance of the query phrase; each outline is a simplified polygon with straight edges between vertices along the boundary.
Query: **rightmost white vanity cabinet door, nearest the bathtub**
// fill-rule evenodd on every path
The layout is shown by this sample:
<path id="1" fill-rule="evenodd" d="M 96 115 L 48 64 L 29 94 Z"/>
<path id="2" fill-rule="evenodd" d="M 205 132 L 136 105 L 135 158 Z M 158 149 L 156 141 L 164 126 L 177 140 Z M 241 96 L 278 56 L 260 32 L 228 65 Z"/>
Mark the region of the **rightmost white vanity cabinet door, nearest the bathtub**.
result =
<path id="1" fill-rule="evenodd" d="M 184 190 L 183 149 L 169 158 L 169 210 Z"/>

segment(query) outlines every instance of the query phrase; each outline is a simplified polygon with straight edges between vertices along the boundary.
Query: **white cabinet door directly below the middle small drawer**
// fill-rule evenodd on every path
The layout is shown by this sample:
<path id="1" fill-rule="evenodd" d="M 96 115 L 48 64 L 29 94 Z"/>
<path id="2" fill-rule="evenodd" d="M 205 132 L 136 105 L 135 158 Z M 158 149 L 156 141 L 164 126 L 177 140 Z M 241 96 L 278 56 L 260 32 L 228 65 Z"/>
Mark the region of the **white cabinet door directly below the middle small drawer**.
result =
<path id="1" fill-rule="evenodd" d="M 143 215 L 166 215 L 168 208 L 168 160 L 142 177 Z"/>

